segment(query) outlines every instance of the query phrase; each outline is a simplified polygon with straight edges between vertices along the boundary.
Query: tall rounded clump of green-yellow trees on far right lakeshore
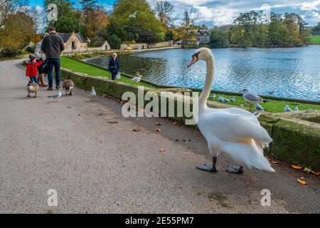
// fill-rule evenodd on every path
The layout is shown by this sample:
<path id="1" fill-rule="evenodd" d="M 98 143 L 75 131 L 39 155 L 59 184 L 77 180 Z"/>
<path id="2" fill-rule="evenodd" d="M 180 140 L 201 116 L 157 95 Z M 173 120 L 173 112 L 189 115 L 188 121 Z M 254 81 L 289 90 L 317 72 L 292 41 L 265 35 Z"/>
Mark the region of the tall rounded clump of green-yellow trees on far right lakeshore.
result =
<path id="1" fill-rule="evenodd" d="M 310 43 L 306 22 L 298 14 L 271 14 L 268 24 L 262 12 L 242 13 L 229 30 L 229 40 L 237 46 L 294 47 Z"/>

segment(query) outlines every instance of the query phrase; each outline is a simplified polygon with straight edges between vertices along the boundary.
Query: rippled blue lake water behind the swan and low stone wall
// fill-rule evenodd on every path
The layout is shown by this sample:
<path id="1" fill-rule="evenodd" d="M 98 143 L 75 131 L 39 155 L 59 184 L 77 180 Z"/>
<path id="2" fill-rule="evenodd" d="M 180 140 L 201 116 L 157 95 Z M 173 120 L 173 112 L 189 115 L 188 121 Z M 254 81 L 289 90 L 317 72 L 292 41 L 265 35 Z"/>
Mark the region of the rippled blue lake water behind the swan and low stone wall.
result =
<path id="1" fill-rule="evenodd" d="M 167 86 L 203 88 L 206 63 L 187 68 L 196 49 L 171 49 L 120 56 L 121 71 Z M 239 91 L 286 98 L 320 100 L 320 46 L 302 48 L 214 49 L 214 90 Z M 106 57 L 87 60 L 107 66 Z"/>

